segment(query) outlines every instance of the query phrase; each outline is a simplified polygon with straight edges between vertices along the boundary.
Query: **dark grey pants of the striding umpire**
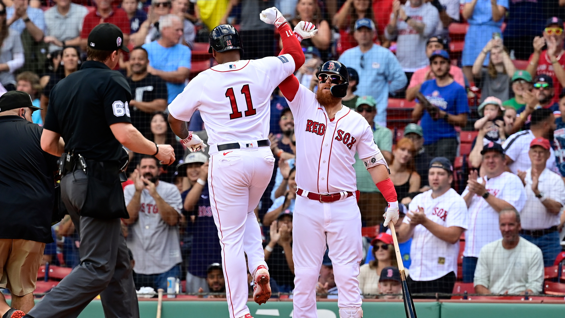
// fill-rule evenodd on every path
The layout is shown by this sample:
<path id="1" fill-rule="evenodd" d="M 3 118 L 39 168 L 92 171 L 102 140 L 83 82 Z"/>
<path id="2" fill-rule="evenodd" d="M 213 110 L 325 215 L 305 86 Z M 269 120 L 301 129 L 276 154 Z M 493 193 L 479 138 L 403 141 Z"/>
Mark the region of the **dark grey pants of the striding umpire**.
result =
<path id="1" fill-rule="evenodd" d="M 76 170 L 60 183 L 61 197 L 80 235 L 80 264 L 29 312 L 33 318 L 76 318 L 100 295 L 106 318 L 138 318 L 136 289 L 120 219 L 81 217 L 86 175 Z"/>

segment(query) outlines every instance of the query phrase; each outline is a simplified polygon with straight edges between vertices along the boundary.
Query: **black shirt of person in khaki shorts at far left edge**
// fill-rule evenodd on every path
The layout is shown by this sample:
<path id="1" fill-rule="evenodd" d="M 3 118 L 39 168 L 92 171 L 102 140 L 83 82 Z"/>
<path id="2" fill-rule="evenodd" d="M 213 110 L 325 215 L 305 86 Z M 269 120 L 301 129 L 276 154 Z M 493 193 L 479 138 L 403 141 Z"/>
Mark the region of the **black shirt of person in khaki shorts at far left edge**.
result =
<path id="1" fill-rule="evenodd" d="M 58 157 L 41 149 L 43 128 L 0 116 L 0 238 L 51 243 L 54 171 Z"/>

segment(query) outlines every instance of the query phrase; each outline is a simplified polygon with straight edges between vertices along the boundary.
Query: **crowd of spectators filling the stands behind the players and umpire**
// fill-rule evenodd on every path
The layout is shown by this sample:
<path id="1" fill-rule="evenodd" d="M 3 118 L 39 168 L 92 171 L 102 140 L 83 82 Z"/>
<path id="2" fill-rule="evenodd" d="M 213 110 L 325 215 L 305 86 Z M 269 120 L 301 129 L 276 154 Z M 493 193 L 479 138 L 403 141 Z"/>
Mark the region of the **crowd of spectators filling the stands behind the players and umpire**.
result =
<path id="1" fill-rule="evenodd" d="M 192 52 L 216 25 L 238 25 L 245 59 L 277 54 L 279 36 L 258 19 L 276 6 L 291 27 L 305 20 L 319 29 L 302 41 L 301 84 L 314 91 L 316 69 L 329 59 L 348 68 L 343 104 L 367 119 L 388 162 L 401 203 L 395 226 L 416 298 L 450 294 L 456 282 L 473 283 L 477 294 L 539 294 L 544 267 L 559 263 L 565 224 L 561 3 L 0 0 L 0 92 L 28 93 L 43 109 L 32 115 L 41 126 L 51 89 L 80 69 L 89 32 L 99 23 L 118 25 L 131 47 L 116 70 L 131 88 L 132 123 L 147 139 L 171 144 L 176 156 L 175 164 L 162 166 L 155 157 L 129 153 L 123 233 L 136 289 L 166 289 L 167 278 L 176 277 L 187 293 L 223 293 L 208 156 L 183 148 L 168 126 L 167 105 L 194 77 Z M 468 29 L 458 54 L 451 51 L 449 27 L 463 22 Z M 519 69 L 516 59 L 528 59 L 527 67 Z M 404 121 L 388 121 L 389 98 L 414 101 Z M 188 125 L 206 142 L 198 112 Z M 270 131 L 279 160 L 255 214 L 276 296 L 294 289 L 292 220 L 300 173 L 293 114 L 277 90 Z M 464 132 L 473 137 L 467 153 Z M 358 157 L 353 166 L 363 226 L 373 230 L 363 237 L 360 293 L 398 298 L 393 240 L 382 226 L 386 201 Z M 79 264 L 80 238 L 70 221 L 67 216 L 51 229 L 54 242 L 46 244 L 43 264 Z M 328 256 L 316 290 L 336 298 Z"/>

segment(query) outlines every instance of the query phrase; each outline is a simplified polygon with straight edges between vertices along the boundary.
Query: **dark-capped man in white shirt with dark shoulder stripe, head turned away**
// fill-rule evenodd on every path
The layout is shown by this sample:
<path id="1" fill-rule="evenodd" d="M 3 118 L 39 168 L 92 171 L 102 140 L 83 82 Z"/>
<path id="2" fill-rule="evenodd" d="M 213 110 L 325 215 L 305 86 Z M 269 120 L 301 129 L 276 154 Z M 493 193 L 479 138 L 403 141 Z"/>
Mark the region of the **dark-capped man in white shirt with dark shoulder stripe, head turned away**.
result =
<path id="1" fill-rule="evenodd" d="M 519 121 L 518 117 L 516 121 Z M 553 139 L 555 131 L 555 117 L 549 109 L 536 109 L 532 112 L 530 129 L 511 135 L 506 139 L 504 152 L 506 154 L 506 165 L 512 173 L 518 174 L 518 170 L 525 171 L 532 166 L 528 152 L 530 143 L 536 138 Z M 550 170 L 555 168 L 555 154 L 550 149 L 551 156 L 546 162 Z"/>

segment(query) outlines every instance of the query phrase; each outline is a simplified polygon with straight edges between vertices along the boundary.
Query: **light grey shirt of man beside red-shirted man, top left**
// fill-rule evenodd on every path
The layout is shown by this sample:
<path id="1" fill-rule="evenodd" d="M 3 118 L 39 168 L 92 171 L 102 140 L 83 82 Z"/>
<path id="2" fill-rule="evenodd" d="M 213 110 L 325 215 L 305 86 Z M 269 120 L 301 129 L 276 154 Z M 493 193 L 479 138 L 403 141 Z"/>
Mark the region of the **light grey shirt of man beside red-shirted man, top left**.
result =
<path id="1" fill-rule="evenodd" d="M 82 21 L 84 16 L 88 14 L 85 6 L 71 3 L 71 7 L 66 15 L 60 14 L 57 6 L 49 8 L 45 11 L 46 36 L 54 36 L 59 41 L 68 41 L 80 36 L 82 31 Z M 49 51 L 53 52 L 62 49 L 54 44 L 49 45 Z"/>

